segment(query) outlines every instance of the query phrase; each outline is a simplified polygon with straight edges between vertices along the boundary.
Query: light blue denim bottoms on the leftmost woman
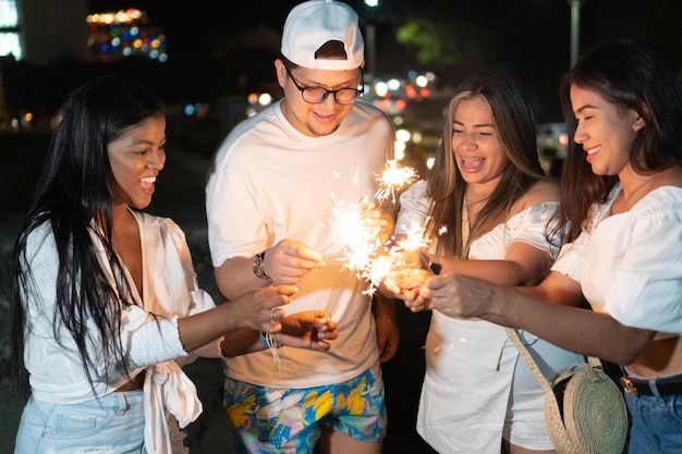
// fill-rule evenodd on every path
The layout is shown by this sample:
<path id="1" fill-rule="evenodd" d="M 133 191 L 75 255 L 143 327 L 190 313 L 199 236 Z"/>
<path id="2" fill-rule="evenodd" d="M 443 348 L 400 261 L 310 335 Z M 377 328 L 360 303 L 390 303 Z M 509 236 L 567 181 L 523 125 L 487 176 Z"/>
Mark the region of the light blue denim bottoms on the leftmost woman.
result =
<path id="1" fill-rule="evenodd" d="M 142 390 L 80 404 L 31 397 L 22 413 L 14 454 L 146 454 Z"/>

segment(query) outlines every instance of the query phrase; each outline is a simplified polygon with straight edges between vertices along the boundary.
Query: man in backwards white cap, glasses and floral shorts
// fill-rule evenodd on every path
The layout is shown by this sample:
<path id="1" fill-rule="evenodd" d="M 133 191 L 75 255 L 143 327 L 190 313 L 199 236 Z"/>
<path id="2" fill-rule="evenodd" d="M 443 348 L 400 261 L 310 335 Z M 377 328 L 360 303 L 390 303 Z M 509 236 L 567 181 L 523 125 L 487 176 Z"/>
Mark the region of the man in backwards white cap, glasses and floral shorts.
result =
<path id="1" fill-rule="evenodd" d="M 386 408 L 380 361 L 398 347 L 392 302 L 373 298 L 344 267 L 334 210 L 377 192 L 393 157 L 390 120 L 362 94 L 364 41 L 345 3 L 295 7 L 275 61 L 284 98 L 235 126 L 206 187 L 216 280 L 230 298 L 268 284 L 296 285 L 288 314 L 327 309 L 329 352 L 277 347 L 226 359 L 224 403 L 244 453 L 380 453 Z M 368 223 L 392 232 L 390 214 Z M 229 303 L 227 303 L 229 304 Z M 253 342 L 243 330 L 230 339 Z M 276 359 L 273 361 L 273 359 Z"/>

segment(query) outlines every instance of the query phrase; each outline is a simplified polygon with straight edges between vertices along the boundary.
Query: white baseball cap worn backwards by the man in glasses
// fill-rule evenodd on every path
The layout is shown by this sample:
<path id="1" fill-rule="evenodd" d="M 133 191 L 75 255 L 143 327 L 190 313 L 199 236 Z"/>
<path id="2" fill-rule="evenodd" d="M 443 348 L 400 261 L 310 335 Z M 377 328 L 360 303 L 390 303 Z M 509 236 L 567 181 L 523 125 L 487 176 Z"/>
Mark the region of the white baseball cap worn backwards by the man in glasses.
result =
<path id="1" fill-rule="evenodd" d="M 315 52 L 327 41 L 338 40 L 345 48 L 345 60 L 316 59 Z M 282 56 L 315 70 L 355 70 L 365 61 L 365 41 L 357 13 L 334 0 L 308 0 L 294 7 L 284 22 Z"/>

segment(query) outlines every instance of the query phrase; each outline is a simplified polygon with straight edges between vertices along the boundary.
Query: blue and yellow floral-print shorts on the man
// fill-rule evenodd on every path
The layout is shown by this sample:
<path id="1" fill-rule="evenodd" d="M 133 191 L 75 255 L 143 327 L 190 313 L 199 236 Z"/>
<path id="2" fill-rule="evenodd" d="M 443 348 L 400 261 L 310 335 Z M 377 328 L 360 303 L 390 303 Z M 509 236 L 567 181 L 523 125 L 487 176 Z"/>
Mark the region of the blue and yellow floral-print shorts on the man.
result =
<path id="1" fill-rule="evenodd" d="M 304 389 L 256 386 L 228 378 L 224 405 L 240 453 L 313 453 L 320 425 L 368 443 L 386 434 L 378 364 L 342 383 Z"/>

